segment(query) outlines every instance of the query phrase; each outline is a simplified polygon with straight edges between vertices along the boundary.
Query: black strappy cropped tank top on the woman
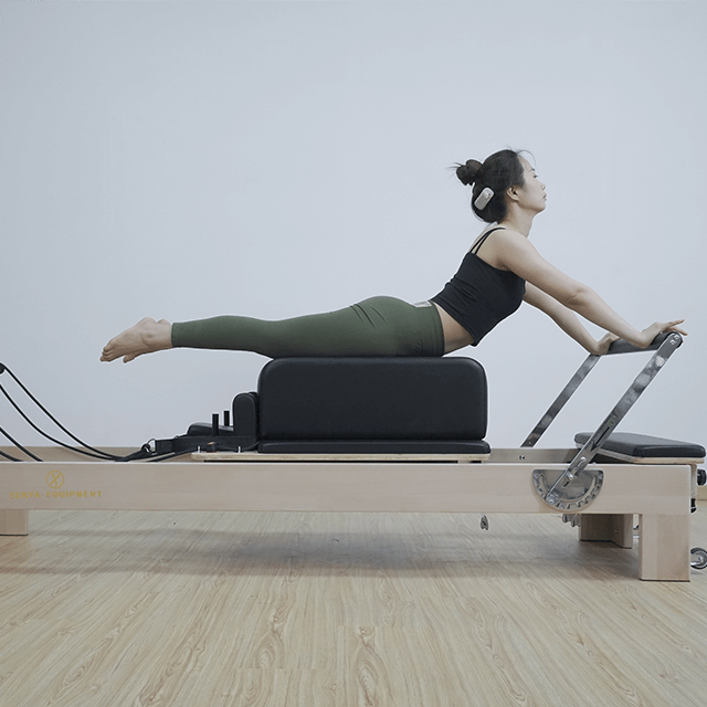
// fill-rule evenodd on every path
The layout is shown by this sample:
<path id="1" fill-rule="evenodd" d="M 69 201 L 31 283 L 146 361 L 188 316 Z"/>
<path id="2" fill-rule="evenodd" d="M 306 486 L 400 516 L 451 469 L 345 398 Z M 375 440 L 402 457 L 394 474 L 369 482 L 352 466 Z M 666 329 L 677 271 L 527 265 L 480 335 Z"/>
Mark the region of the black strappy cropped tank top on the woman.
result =
<path id="1" fill-rule="evenodd" d="M 523 303 L 526 281 L 510 271 L 498 270 L 478 257 L 486 239 L 503 226 L 486 231 L 464 256 L 456 275 L 432 297 L 474 339 L 476 346 L 502 319 Z"/>

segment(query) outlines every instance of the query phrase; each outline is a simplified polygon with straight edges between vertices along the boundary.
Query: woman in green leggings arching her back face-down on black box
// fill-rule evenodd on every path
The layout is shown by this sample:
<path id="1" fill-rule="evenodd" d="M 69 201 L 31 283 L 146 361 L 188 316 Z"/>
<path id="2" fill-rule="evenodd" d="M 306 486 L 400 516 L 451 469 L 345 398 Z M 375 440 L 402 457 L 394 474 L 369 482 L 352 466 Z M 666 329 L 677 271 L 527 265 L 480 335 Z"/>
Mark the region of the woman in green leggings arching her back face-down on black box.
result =
<path id="1" fill-rule="evenodd" d="M 545 210 L 545 184 L 514 150 L 482 165 L 468 160 L 456 175 L 472 186 L 474 213 L 489 224 L 464 257 L 456 275 L 431 300 L 410 305 L 373 297 L 346 309 L 282 321 L 215 317 L 171 325 L 143 319 L 110 339 L 101 360 L 133 359 L 172 347 L 247 350 L 288 356 L 442 356 L 476 346 L 523 300 L 549 315 L 590 354 L 605 354 L 625 339 L 645 348 L 662 331 L 685 334 L 683 319 L 656 321 L 639 331 L 590 287 L 544 260 L 528 240 Z M 577 314 L 608 334 L 597 341 Z"/>

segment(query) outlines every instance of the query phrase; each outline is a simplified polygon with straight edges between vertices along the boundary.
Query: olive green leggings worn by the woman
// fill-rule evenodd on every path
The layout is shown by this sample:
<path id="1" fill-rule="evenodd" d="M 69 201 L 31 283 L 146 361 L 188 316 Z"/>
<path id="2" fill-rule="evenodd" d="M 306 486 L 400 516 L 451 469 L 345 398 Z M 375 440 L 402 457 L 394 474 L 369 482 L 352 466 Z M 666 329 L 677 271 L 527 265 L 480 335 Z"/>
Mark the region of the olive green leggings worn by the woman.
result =
<path id="1" fill-rule="evenodd" d="M 394 297 L 281 321 L 224 316 L 172 325 L 172 346 L 299 356 L 442 356 L 444 333 L 436 307 Z"/>

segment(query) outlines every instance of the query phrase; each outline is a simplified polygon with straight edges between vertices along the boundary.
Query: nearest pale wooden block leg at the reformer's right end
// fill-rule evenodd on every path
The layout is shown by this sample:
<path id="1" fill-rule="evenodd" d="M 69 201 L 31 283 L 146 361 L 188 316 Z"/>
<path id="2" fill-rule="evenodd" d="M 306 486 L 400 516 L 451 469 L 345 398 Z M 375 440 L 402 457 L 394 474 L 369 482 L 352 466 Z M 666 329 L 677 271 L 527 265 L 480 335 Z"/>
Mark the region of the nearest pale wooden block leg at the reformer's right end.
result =
<path id="1" fill-rule="evenodd" d="M 689 581 L 689 515 L 641 516 L 640 577 Z"/>

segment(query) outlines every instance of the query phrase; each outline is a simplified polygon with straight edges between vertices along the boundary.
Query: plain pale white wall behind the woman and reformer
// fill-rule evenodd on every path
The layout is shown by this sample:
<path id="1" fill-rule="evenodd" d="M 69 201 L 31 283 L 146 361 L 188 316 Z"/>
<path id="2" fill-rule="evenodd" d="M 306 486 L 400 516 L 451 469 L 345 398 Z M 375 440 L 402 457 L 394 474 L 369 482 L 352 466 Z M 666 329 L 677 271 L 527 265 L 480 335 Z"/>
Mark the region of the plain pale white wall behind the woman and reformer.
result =
<path id="1" fill-rule="evenodd" d="M 180 434 L 265 359 L 106 365 L 108 338 L 428 298 L 481 229 L 447 167 L 511 146 L 548 186 L 548 260 L 639 327 L 687 318 L 623 428 L 705 443 L 706 22 L 693 1 L 2 2 L 0 361 L 92 444 Z M 527 307 L 464 352 L 494 445 L 584 358 Z M 545 443 L 644 360 L 602 361 Z M 4 399 L 0 425 L 35 441 Z"/>

